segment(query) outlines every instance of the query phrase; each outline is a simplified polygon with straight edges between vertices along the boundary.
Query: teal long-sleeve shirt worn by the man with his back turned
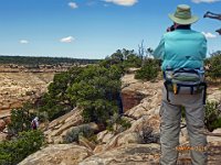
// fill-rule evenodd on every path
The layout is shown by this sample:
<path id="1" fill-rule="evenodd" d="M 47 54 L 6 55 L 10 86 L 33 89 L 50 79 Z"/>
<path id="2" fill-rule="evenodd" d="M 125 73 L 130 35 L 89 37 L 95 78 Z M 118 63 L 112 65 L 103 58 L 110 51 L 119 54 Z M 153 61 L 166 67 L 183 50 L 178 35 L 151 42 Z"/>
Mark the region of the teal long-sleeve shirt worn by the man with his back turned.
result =
<path id="1" fill-rule="evenodd" d="M 200 68 L 207 55 L 207 40 L 200 32 L 175 30 L 164 34 L 154 51 L 154 57 L 162 59 L 161 69 Z"/>

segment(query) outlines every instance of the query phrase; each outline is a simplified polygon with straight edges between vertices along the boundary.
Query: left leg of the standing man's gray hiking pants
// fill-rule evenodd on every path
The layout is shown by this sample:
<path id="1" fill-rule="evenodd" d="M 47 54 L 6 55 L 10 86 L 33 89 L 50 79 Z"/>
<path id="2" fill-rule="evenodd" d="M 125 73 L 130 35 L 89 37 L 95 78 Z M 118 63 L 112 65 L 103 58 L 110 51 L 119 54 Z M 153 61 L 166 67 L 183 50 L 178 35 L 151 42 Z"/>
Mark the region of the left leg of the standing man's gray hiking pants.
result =
<path id="1" fill-rule="evenodd" d="M 160 144 L 161 144 L 161 165 L 175 165 L 177 163 L 178 151 L 176 146 L 179 145 L 180 107 L 170 105 L 162 100 L 160 108 Z"/>

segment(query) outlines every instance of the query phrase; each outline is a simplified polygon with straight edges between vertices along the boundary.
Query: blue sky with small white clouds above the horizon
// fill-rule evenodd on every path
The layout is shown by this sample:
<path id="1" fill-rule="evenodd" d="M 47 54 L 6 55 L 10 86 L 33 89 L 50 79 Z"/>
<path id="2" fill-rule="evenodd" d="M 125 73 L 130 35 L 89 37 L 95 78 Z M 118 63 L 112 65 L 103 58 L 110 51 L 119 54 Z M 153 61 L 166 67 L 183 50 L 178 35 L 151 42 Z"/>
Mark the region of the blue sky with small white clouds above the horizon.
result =
<path id="1" fill-rule="evenodd" d="M 202 18 L 221 13 L 221 0 L 0 0 L 0 54 L 105 58 L 143 40 L 155 48 L 180 3 L 200 16 L 192 29 L 208 35 L 208 53 L 221 50 L 221 21 Z"/>

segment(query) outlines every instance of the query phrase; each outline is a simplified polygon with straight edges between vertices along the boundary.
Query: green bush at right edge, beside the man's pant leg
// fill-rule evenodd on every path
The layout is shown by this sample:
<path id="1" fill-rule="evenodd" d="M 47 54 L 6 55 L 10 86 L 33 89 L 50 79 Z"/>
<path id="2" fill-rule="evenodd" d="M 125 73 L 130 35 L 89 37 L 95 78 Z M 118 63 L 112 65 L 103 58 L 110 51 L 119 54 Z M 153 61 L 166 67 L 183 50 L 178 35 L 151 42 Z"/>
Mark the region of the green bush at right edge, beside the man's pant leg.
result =
<path id="1" fill-rule="evenodd" d="M 209 131 L 221 128 L 221 103 L 220 102 L 207 102 L 204 124 Z"/>

